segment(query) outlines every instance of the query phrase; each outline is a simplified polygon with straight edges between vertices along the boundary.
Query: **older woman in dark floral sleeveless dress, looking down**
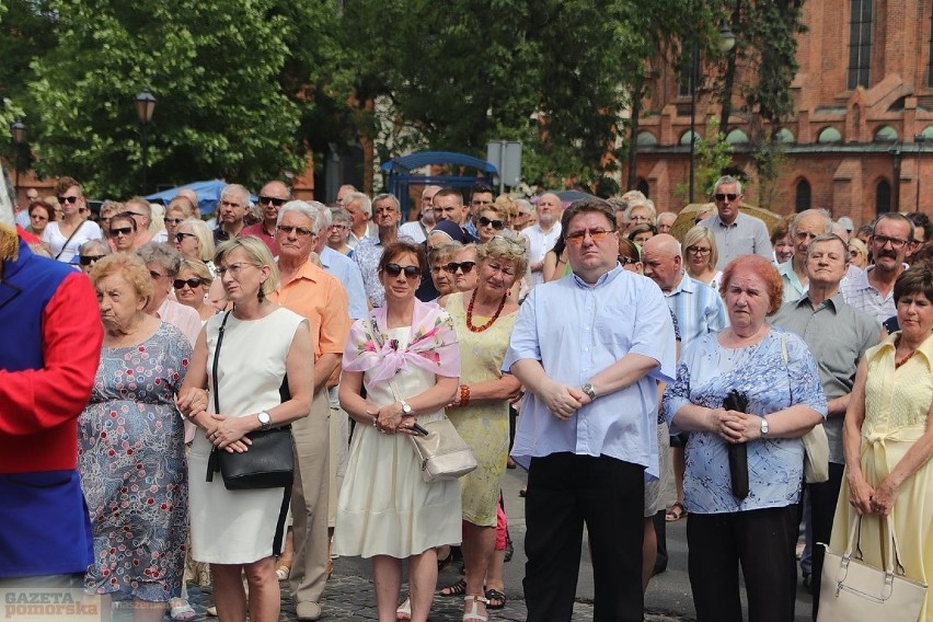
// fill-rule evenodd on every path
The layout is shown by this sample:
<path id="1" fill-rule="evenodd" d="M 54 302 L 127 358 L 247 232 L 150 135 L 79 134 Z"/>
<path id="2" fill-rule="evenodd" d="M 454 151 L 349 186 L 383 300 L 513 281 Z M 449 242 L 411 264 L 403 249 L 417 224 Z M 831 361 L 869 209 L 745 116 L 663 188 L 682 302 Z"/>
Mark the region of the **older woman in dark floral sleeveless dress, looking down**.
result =
<path id="1" fill-rule="evenodd" d="M 181 595 L 184 572 L 186 464 L 174 395 L 192 348 L 177 329 L 143 313 L 152 280 L 139 257 L 110 255 L 91 279 L 105 335 L 78 431 L 94 531 L 85 586 L 131 599 L 136 620 L 161 620 L 165 603 Z"/>

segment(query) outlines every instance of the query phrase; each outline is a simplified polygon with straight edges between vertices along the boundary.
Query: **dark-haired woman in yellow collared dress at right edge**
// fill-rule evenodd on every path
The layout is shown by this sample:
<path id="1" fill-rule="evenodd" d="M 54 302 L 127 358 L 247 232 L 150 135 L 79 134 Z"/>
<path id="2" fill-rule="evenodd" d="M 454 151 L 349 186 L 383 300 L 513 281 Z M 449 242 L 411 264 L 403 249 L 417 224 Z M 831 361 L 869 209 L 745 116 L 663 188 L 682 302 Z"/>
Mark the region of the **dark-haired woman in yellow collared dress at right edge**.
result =
<path id="1" fill-rule="evenodd" d="M 891 521 L 908 578 L 933 579 L 933 270 L 913 266 L 894 298 L 900 331 L 865 353 L 843 427 L 845 477 L 830 549 L 844 551 L 854 514 L 862 516 L 866 563 L 884 567 L 880 518 Z M 853 514 L 854 512 L 854 514 Z M 933 621 L 931 592 L 920 614 Z"/>

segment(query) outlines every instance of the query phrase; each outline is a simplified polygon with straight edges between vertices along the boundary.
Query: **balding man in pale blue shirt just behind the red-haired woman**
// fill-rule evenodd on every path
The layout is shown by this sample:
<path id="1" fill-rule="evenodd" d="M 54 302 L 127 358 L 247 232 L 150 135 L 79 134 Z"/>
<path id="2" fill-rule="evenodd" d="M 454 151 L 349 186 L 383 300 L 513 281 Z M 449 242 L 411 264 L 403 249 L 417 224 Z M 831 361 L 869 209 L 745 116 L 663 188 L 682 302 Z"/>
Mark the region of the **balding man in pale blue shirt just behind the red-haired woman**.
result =
<path id="1" fill-rule="evenodd" d="M 642 247 L 645 276 L 654 280 L 680 324 L 682 349 L 703 333 L 715 333 L 728 322 L 723 299 L 712 287 L 691 278 L 683 269 L 680 242 L 667 233 L 655 235 Z"/>

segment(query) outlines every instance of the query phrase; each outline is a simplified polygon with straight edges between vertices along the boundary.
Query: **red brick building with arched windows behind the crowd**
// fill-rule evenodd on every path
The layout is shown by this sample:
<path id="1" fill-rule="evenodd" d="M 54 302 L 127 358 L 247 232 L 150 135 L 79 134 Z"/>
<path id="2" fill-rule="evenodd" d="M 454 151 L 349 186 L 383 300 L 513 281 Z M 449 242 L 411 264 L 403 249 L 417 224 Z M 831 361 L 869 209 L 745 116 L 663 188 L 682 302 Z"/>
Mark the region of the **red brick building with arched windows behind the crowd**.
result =
<path id="1" fill-rule="evenodd" d="M 781 130 L 786 162 L 767 207 L 779 214 L 828 208 L 856 224 L 885 211 L 933 215 L 931 3 L 808 0 L 803 11 L 808 30 L 798 35 L 795 112 Z M 712 71 L 701 65 L 700 136 L 719 115 L 711 87 L 721 78 Z M 675 192 L 689 176 L 691 93 L 683 82 L 673 67 L 661 68 L 643 104 L 636 173 L 659 209 L 686 203 L 684 193 Z M 768 203 L 749 165 L 753 119 L 741 105 L 736 95 L 727 140 L 750 180 L 747 200 Z M 705 193 L 698 186 L 696 200 Z"/>

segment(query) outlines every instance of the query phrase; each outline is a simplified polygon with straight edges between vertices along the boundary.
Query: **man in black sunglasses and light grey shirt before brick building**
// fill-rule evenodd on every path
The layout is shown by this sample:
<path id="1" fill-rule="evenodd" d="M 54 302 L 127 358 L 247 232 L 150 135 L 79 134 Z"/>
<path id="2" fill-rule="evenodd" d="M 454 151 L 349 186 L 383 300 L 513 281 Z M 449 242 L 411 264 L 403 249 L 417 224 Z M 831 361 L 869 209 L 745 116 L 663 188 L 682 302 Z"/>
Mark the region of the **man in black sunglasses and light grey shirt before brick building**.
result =
<path id="1" fill-rule="evenodd" d="M 739 211 L 745 197 L 741 194 L 741 182 L 724 175 L 713 187 L 717 214 L 701 220 L 699 224 L 709 227 L 716 238 L 716 250 L 719 253 L 716 269 L 723 269 L 739 255 L 761 255 L 773 260 L 768 226 L 760 218 Z"/>

